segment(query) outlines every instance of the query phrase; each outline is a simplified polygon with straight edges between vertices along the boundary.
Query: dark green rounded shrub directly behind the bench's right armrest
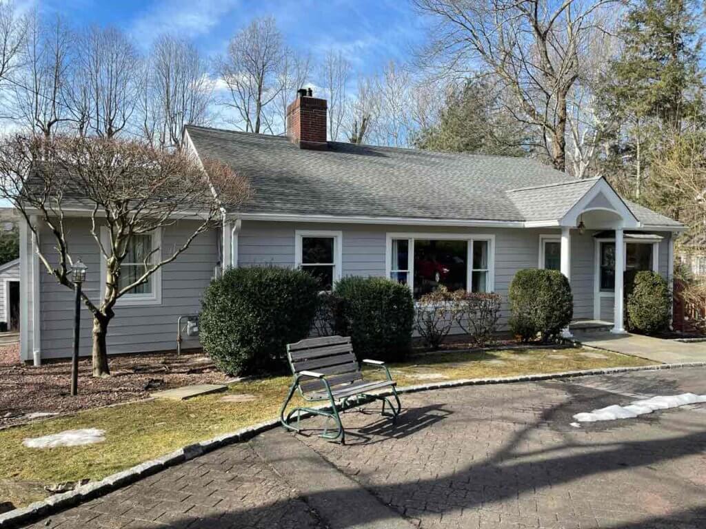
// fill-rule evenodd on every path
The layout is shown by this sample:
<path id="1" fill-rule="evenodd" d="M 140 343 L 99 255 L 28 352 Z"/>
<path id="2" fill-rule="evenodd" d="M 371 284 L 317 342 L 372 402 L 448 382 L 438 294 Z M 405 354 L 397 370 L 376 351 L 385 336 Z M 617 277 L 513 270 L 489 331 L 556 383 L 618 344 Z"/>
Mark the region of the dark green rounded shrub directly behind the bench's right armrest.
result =
<path id="1" fill-rule="evenodd" d="M 412 346 L 414 301 L 407 286 L 380 277 L 337 282 L 335 327 L 359 359 L 403 360 Z"/>

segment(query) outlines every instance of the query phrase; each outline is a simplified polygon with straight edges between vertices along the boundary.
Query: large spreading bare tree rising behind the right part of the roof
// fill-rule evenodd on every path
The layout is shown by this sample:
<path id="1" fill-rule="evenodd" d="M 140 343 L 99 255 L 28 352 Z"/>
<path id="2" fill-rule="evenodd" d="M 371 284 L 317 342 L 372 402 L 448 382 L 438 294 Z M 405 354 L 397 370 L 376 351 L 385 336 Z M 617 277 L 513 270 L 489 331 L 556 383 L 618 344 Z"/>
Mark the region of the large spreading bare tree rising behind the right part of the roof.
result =
<path id="1" fill-rule="evenodd" d="M 503 81 L 511 109 L 539 129 L 556 169 L 566 167 L 567 99 L 587 42 L 619 0 L 414 0 L 438 22 L 429 54 L 454 73 L 477 61 Z"/>

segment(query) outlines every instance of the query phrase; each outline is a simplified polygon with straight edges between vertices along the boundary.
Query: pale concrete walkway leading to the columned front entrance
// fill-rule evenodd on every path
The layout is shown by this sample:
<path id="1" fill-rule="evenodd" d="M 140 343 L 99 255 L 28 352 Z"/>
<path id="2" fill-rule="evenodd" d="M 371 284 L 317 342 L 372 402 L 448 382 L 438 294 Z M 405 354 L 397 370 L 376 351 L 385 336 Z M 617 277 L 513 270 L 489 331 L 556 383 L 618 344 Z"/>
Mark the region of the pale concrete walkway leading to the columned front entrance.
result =
<path id="1" fill-rule="evenodd" d="M 585 346 L 639 356 L 659 363 L 706 362 L 706 342 L 685 343 L 639 334 L 610 332 L 576 331 L 573 334 L 574 338 Z"/>

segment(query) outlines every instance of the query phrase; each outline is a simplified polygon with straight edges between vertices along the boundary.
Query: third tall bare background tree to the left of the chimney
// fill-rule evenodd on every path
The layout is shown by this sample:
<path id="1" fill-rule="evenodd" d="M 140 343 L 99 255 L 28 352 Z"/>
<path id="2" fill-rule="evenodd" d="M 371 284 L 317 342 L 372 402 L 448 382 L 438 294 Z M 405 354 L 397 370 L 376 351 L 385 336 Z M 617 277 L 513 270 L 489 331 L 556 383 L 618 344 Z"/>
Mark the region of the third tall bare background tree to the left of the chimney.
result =
<path id="1" fill-rule="evenodd" d="M 88 97 L 88 130 L 100 138 L 113 138 L 128 127 L 138 104 L 140 55 L 124 33 L 115 28 L 90 28 L 78 43 L 78 75 Z M 77 114 L 83 118 L 83 92 Z M 78 96 L 78 97 L 76 97 Z"/>

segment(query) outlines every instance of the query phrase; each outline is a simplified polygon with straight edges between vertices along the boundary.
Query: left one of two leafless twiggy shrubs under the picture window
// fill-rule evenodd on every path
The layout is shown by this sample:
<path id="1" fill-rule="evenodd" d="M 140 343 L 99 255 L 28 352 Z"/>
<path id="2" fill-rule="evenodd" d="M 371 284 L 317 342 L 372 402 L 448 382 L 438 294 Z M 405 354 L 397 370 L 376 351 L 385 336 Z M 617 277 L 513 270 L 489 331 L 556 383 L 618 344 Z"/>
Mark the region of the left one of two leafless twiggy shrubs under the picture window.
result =
<path id="1" fill-rule="evenodd" d="M 461 297 L 445 286 L 421 296 L 414 308 L 414 328 L 427 346 L 438 349 L 457 319 Z"/>

